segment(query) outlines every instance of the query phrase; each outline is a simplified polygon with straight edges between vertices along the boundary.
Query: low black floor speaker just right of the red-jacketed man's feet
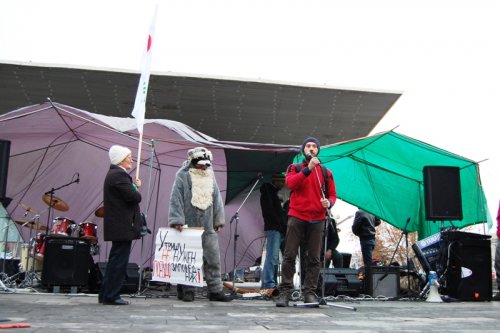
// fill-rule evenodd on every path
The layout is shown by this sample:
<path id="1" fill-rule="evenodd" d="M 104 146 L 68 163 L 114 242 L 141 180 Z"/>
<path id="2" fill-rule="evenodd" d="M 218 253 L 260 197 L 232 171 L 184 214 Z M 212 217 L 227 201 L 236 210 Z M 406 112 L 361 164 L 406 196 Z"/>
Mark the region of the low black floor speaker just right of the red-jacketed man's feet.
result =
<path id="1" fill-rule="evenodd" d="M 322 279 L 325 279 L 325 296 L 347 295 L 356 297 L 362 289 L 358 271 L 350 268 L 322 268 L 318 291 L 322 291 Z"/>

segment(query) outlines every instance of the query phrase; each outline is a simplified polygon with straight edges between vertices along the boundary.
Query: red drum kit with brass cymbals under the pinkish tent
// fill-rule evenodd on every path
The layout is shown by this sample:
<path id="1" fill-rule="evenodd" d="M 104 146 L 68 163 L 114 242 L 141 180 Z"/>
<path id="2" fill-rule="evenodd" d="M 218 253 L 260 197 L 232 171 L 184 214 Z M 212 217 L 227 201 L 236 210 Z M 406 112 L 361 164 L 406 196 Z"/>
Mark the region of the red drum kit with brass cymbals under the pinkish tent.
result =
<path id="1" fill-rule="evenodd" d="M 56 211 L 65 212 L 69 210 L 68 204 L 61 198 L 43 195 L 42 200 L 50 208 Z M 29 220 L 17 220 L 16 224 L 30 229 L 29 242 L 21 245 L 21 260 L 19 263 L 19 272 L 14 276 L 8 277 L 4 282 L 13 283 L 21 273 L 25 273 L 24 280 L 19 287 L 31 287 L 33 281 L 39 279 L 36 272 L 41 272 L 43 269 L 43 258 L 45 254 L 46 237 L 77 237 L 87 239 L 90 243 L 90 255 L 99 254 L 99 243 L 97 238 L 97 224 L 85 221 L 77 224 L 75 221 L 67 217 L 56 217 L 52 220 L 50 228 L 47 230 L 47 225 L 40 223 L 40 215 L 28 205 L 20 204 L 25 210 L 25 218 L 28 213 L 33 214 L 33 218 Z M 96 217 L 104 217 L 104 207 L 100 207 L 95 211 Z M 33 232 L 36 235 L 33 236 Z"/>

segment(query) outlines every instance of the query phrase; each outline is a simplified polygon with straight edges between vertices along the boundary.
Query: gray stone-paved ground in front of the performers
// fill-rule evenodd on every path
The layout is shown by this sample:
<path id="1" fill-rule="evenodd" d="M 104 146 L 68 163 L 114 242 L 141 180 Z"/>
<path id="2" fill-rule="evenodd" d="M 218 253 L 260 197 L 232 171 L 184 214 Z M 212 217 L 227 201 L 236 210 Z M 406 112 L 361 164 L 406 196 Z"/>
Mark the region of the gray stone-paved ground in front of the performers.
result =
<path id="1" fill-rule="evenodd" d="M 185 303 L 168 290 L 144 294 L 149 297 L 124 295 L 131 305 L 109 306 L 97 304 L 92 294 L 3 292 L 0 325 L 31 326 L 8 330 L 12 332 L 500 332 L 500 302 L 358 299 L 311 309 L 277 308 L 261 297 L 218 303 L 198 294 Z"/>

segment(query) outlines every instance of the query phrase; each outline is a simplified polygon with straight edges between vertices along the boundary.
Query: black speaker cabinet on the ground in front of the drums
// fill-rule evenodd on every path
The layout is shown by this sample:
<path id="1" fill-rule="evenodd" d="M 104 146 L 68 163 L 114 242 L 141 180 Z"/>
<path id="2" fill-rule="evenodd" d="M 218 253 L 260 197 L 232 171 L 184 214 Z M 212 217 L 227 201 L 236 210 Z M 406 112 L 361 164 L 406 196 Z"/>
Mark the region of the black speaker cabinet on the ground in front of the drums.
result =
<path id="1" fill-rule="evenodd" d="M 45 237 L 42 285 L 86 286 L 92 257 L 90 241 L 74 237 Z"/>

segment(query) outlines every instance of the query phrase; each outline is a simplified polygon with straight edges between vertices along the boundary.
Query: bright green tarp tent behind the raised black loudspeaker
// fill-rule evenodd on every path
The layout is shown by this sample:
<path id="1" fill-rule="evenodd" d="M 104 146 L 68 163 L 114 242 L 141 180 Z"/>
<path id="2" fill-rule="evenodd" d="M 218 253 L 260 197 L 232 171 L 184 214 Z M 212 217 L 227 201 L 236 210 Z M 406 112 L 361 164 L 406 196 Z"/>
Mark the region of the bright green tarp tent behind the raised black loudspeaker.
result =
<path id="1" fill-rule="evenodd" d="M 479 165 L 472 160 L 394 131 L 323 146 L 319 158 L 332 170 L 340 199 L 400 229 L 410 218 L 408 232 L 418 231 L 419 239 L 441 227 L 463 228 L 485 222 L 491 227 Z M 462 220 L 426 221 L 425 166 L 460 169 Z"/>

